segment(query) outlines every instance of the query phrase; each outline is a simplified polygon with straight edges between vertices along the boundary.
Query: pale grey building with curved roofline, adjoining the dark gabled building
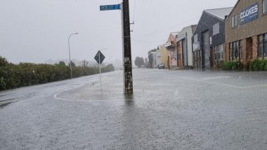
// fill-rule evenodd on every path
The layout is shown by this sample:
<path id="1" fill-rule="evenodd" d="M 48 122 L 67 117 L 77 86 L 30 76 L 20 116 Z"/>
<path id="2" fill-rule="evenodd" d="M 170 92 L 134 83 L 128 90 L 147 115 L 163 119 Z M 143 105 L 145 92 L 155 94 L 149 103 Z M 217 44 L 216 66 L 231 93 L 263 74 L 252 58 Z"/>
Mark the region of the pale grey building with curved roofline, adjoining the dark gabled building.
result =
<path id="1" fill-rule="evenodd" d="M 176 38 L 178 67 L 193 67 L 192 36 L 196 27 L 184 27 Z"/>

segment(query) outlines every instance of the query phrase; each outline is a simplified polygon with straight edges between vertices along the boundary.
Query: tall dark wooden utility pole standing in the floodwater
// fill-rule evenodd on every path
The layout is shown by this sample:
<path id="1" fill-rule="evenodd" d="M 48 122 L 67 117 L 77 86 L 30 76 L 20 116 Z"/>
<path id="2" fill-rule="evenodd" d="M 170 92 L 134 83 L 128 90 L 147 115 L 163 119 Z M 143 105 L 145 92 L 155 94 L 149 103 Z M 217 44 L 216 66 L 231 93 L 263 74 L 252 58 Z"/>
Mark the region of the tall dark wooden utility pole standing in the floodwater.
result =
<path id="1" fill-rule="evenodd" d="M 131 29 L 129 0 L 122 2 L 122 32 L 123 32 L 123 57 L 124 64 L 124 94 L 133 95 L 133 74 L 131 64 Z"/>

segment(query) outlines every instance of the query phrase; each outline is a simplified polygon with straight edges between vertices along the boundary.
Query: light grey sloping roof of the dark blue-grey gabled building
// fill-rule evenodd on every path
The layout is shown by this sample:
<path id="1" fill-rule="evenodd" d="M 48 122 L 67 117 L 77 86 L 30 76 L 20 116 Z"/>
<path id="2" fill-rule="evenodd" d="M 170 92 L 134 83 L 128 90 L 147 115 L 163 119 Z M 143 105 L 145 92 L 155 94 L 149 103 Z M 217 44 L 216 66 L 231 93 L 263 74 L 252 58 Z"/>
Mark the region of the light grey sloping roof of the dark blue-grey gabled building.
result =
<path id="1" fill-rule="evenodd" d="M 210 15 L 214 15 L 214 17 L 219 18 L 220 20 L 225 20 L 226 15 L 229 15 L 232 10 L 233 7 L 228 7 L 228 8 L 208 9 L 204 10 L 204 12 L 209 13 Z"/>

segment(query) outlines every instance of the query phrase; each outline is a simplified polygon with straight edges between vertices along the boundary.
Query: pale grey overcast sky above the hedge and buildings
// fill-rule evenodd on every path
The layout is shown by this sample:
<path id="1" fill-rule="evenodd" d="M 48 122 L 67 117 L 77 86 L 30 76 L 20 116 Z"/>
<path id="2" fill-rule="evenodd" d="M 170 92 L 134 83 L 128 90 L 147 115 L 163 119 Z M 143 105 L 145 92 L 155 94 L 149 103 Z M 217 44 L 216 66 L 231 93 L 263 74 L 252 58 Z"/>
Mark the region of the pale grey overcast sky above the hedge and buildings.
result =
<path id="1" fill-rule="evenodd" d="M 106 62 L 122 60 L 120 11 L 99 11 L 100 5 L 122 0 L 1 0 L 0 55 L 9 62 L 44 63 L 68 58 L 93 60 L 102 48 Z M 202 11 L 233 7 L 237 0 L 129 0 L 132 58 L 167 41 L 169 32 L 197 24 Z M 135 10 L 135 11 L 134 11 Z M 135 13 L 134 13 L 135 12 Z"/>

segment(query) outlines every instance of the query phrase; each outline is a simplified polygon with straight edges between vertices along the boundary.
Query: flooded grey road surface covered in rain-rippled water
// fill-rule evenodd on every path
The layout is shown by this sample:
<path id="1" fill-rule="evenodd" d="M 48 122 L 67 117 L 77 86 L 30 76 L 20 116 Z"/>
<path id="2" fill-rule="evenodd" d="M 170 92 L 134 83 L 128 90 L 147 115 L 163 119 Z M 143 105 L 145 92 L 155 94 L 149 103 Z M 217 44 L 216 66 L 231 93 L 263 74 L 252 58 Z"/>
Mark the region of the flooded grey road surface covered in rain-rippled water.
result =
<path id="1" fill-rule="evenodd" d="M 267 72 L 133 69 L 0 92 L 0 149 L 267 149 Z"/>

